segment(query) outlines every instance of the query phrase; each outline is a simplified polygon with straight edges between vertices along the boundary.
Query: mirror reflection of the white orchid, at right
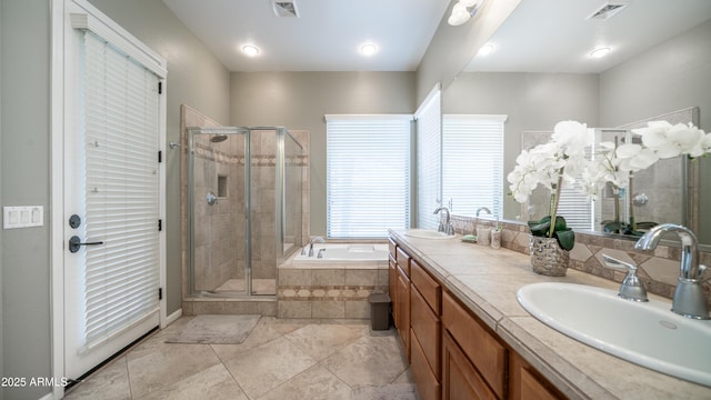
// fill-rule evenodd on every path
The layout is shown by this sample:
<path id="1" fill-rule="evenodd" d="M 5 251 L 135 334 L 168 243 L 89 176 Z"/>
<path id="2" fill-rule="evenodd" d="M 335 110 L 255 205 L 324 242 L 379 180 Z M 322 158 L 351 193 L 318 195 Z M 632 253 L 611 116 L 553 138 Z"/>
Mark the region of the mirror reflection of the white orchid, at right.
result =
<path id="1" fill-rule="evenodd" d="M 678 156 L 697 158 L 711 152 L 711 133 L 704 133 L 691 123 L 671 124 L 667 121 L 653 121 L 645 128 L 632 129 L 632 133 L 641 137 L 641 144 L 599 144 L 601 150 L 583 170 L 581 178 L 581 188 L 590 198 L 597 199 L 608 183 L 613 188 L 614 194 L 622 188 L 631 192 L 633 173 L 651 167 L 659 160 Z M 619 198 L 617 200 L 619 201 Z M 632 212 L 629 224 L 619 221 L 619 207 L 615 207 L 615 220 L 605 221 L 608 231 L 620 230 L 634 234 L 637 229 Z"/>

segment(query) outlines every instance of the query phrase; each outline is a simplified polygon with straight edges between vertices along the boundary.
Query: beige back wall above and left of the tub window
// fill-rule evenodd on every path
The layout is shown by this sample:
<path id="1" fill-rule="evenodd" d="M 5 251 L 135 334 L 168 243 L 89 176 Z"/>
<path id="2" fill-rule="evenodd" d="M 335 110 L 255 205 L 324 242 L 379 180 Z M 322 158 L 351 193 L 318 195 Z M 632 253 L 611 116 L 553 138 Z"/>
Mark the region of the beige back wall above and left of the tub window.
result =
<path id="1" fill-rule="evenodd" d="M 311 234 L 326 234 L 328 113 L 412 113 L 414 72 L 233 72 L 230 123 L 310 132 Z M 377 140 L 377 138 L 373 138 Z"/>

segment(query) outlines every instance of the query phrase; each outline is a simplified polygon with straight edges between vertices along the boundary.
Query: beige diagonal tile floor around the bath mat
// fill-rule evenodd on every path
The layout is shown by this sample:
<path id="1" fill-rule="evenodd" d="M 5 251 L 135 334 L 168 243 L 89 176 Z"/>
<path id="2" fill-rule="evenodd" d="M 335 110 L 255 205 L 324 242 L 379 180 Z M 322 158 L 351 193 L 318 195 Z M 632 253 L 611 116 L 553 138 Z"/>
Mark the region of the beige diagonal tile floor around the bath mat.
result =
<path id="1" fill-rule="evenodd" d="M 153 333 L 66 399 L 418 399 L 394 329 L 262 317 L 241 344 L 164 343 L 190 318 Z"/>

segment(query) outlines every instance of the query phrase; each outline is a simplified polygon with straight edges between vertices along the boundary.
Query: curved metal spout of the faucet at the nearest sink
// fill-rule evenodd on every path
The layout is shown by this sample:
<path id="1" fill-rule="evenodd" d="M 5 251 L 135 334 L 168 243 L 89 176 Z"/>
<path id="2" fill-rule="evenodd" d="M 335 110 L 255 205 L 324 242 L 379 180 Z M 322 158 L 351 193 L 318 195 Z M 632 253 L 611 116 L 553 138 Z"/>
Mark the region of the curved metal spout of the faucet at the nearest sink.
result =
<path id="1" fill-rule="evenodd" d="M 699 240 L 689 228 L 675 223 L 658 224 L 644 233 L 634 248 L 654 249 L 667 232 L 674 232 L 681 239 L 679 283 L 674 291 L 671 310 L 688 318 L 709 319 L 709 306 L 701 288 L 701 276 L 707 267 L 699 266 Z"/>

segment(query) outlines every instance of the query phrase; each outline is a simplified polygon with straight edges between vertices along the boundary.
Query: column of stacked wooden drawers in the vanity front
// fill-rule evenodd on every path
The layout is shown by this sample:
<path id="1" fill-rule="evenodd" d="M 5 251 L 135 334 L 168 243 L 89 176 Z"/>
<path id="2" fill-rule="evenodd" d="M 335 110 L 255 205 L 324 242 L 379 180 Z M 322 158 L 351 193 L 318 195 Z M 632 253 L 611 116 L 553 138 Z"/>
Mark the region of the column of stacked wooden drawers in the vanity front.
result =
<path id="1" fill-rule="evenodd" d="M 441 287 L 410 261 L 410 352 L 411 370 L 420 399 L 441 398 Z"/>

